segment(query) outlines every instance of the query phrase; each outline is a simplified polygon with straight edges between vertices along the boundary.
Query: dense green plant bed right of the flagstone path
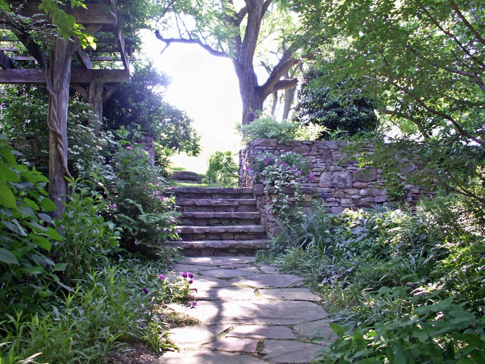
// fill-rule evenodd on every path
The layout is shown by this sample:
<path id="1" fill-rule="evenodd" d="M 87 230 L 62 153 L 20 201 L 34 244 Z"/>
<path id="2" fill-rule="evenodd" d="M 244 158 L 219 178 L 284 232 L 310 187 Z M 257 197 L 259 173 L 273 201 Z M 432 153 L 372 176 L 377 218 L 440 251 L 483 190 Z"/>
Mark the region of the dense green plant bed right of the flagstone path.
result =
<path id="1" fill-rule="evenodd" d="M 482 221 L 455 195 L 413 211 L 315 205 L 260 257 L 324 297 L 335 335 L 316 363 L 483 363 Z"/>

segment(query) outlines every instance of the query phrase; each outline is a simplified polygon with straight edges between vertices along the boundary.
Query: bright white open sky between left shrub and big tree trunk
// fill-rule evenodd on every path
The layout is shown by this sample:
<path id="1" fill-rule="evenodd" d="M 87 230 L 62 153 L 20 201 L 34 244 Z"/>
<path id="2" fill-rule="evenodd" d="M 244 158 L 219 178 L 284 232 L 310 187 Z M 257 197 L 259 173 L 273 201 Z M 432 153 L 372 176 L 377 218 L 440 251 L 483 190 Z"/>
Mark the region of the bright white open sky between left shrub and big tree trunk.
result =
<path id="1" fill-rule="evenodd" d="M 153 35 L 142 39 L 145 43 L 142 51 L 158 70 L 171 77 L 165 100 L 184 110 L 201 136 L 200 156 L 174 156 L 173 166 L 204 173 L 215 151 L 231 150 L 237 155 L 241 136 L 236 125 L 241 122 L 242 103 L 231 61 L 187 44 L 172 44 L 160 55 L 164 43 Z"/>

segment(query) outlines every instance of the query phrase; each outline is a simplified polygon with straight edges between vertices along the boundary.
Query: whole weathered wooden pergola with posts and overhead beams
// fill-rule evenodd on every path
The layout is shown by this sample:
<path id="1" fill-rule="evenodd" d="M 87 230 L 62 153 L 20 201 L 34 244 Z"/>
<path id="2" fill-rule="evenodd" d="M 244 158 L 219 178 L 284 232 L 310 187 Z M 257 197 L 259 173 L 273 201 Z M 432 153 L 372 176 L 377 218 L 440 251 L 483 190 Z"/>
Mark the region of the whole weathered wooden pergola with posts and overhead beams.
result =
<path id="1" fill-rule="evenodd" d="M 38 1 L 9 2 L 15 13 L 36 21 L 50 22 L 49 17 L 39 10 Z M 0 48 L 0 83 L 2 84 L 44 84 L 49 92 L 49 198 L 56 206 L 55 217 L 61 218 L 63 201 L 68 192 L 66 177 L 71 177 L 67 168 L 67 115 L 69 90 L 73 88 L 92 106 L 97 116 L 93 120 L 95 131 L 102 122 L 102 103 L 111 95 L 105 86 L 126 82 L 130 77 L 129 57 L 121 33 L 120 17 L 116 0 L 104 3 L 85 1 L 87 9 L 72 9 L 67 5 L 64 11 L 85 27 L 84 32 L 99 35 L 97 49 L 83 49 L 78 39 L 52 37 L 45 51 L 30 37 L 28 29 L 9 28 L 14 39 L 3 40 L 9 47 Z M 24 46 L 26 52 L 20 53 Z M 100 47 L 101 46 L 101 47 Z M 48 54 L 46 54 L 48 53 Z M 72 62 L 75 57 L 78 62 Z M 30 68 L 24 68 L 26 62 Z M 119 61 L 119 69 L 102 69 L 100 62 Z M 76 65 L 76 68 L 74 68 Z"/>

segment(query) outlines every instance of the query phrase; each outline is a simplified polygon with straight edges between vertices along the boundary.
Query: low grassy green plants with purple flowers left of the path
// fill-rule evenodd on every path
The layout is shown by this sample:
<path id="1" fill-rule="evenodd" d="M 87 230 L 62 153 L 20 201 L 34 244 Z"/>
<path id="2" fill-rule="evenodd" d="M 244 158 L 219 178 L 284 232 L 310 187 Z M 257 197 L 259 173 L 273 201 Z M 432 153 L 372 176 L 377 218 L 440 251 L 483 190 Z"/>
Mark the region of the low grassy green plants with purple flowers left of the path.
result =
<path id="1" fill-rule="evenodd" d="M 184 303 L 190 280 L 163 278 L 164 262 L 135 260 L 90 268 L 73 291 L 55 297 L 44 310 L 25 319 L 8 315 L 13 327 L 2 339 L 0 363 L 37 356 L 42 363 L 100 363 L 126 344 L 145 342 L 159 352 L 167 339 L 163 302 Z"/>

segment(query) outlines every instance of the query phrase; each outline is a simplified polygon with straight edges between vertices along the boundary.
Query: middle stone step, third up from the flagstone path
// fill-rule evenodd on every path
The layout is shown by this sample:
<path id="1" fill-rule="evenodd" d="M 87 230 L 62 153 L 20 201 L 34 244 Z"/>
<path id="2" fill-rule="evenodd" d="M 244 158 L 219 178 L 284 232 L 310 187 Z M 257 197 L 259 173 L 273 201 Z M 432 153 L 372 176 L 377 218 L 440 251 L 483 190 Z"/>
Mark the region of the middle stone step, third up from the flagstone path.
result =
<path id="1" fill-rule="evenodd" d="M 258 212 L 184 212 L 181 225 L 254 225 L 260 223 Z"/>

